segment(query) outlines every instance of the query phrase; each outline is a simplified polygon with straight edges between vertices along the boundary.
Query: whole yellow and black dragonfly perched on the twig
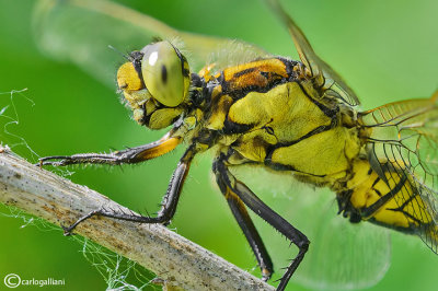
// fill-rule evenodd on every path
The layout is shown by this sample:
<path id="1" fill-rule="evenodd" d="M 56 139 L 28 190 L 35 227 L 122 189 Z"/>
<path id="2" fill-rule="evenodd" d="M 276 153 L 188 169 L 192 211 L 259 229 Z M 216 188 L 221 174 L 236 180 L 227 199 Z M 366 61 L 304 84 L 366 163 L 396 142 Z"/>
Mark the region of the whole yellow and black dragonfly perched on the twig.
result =
<path id="1" fill-rule="evenodd" d="M 128 61 L 118 69 L 118 89 L 137 123 L 151 129 L 171 129 L 146 146 L 108 154 L 47 156 L 41 159 L 41 165 L 139 163 L 187 144 L 170 183 L 166 203 L 157 218 L 97 210 L 80 218 L 67 232 L 95 214 L 169 223 L 194 156 L 212 150 L 217 184 L 254 251 L 263 279 L 270 278 L 273 263 L 247 210 L 299 249 L 278 290 L 286 288 L 301 260 L 306 260 L 309 240 L 293 222 L 281 218 L 235 178 L 232 168 L 258 165 L 330 188 L 336 194 L 339 213 L 351 223 L 367 221 L 415 234 L 437 252 L 437 93 L 429 98 L 360 110 L 354 91 L 314 53 L 295 21 L 278 2 L 266 2 L 288 28 L 300 60 L 272 56 L 240 40 L 178 32 L 107 1 L 71 1 L 73 10 L 68 13 L 62 7 L 42 1 L 38 13 L 44 20 L 66 21 L 78 11 L 100 13 L 103 20 L 117 22 L 129 39 L 124 25 L 134 26 L 136 30 L 129 33 L 137 36 L 134 45 L 140 49 L 128 54 Z M 62 11 L 65 19 L 54 16 Z M 58 26 L 53 24 L 41 23 L 43 45 L 45 37 L 59 35 Z M 143 47 L 138 42 L 145 38 L 138 36 L 146 33 L 157 39 Z M 73 32 L 66 42 L 69 50 L 74 48 L 70 44 L 76 36 Z M 195 62 L 216 51 L 198 73 L 191 70 L 192 63 L 178 49 L 180 38 Z M 87 46 L 84 40 L 73 45 Z M 59 51 L 54 49 L 60 48 L 45 49 L 56 55 Z M 102 57 L 95 60 L 111 63 Z M 102 67 L 95 60 L 95 66 L 83 67 L 92 67 L 93 74 L 107 74 L 104 69 L 99 71 Z"/>

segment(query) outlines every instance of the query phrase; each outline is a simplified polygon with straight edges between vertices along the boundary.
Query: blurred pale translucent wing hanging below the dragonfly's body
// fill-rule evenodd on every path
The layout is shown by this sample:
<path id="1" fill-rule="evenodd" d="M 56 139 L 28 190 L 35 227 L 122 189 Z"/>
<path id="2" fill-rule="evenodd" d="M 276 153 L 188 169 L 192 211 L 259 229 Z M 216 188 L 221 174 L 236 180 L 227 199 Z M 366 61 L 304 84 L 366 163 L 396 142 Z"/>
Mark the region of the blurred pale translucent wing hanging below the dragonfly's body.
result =
<path id="1" fill-rule="evenodd" d="M 316 290 L 349 290 L 369 288 L 385 275 L 390 231 L 366 222 L 353 224 L 337 216 L 335 195 L 328 189 L 314 191 L 292 181 L 291 174 L 255 166 L 235 170 L 235 175 L 310 240 L 293 281 Z M 281 235 L 272 235 L 266 223 L 261 222 L 257 229 L 275 261 L 274 276 L 280 277 L 281 267 L 287 265 L 285 257 L 293 251 L 286 247 Z"/>

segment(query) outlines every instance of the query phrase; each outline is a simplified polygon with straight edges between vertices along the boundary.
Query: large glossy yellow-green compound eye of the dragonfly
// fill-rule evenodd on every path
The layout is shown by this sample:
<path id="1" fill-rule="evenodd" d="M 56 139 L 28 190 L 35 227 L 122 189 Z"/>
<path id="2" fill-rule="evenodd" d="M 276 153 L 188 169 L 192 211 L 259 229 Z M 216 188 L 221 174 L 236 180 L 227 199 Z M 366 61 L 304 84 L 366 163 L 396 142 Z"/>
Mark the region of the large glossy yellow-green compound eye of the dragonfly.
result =
<path id="1" fill-rule="evenodd" d="M 188 65 L 169 42 L 159 42 L 141 49 L 141 73 L 150 94 L 161 104 L 180 105 L 189 85 Z"/>

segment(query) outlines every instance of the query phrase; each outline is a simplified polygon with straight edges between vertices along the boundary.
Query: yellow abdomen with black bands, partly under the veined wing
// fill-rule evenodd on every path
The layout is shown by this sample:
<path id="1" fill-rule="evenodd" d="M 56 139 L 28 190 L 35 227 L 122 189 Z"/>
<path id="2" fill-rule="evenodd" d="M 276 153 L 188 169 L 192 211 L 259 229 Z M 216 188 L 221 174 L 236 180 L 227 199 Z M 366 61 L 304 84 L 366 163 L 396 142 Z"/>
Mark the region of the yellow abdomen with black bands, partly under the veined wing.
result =
<path id="1" fill-rule="evenodd" d="M 346 189 L 338 191 L 339 212 L 351 222 L 366 220 L 437 241 L 428 203 L 413 183 L 401 170 L 382 166 L 379 175 L 367 160 L 356 160 Z"/>

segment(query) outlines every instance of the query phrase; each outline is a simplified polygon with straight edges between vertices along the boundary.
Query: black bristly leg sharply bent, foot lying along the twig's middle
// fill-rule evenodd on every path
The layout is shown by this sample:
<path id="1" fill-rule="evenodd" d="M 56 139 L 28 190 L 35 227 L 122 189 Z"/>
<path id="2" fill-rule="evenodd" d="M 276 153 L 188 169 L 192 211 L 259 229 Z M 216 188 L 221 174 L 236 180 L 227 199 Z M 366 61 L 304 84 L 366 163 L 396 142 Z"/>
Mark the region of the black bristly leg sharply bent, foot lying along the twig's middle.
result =
<path id="1" fill-rule="evenodd" d="M 176 170 L 173 172 L 171 182 L 169 183 L 168 191 L 165 193 L 160 211 L 158 211 L 157 217 L 143 217 L 135 213 L 125 213 L 123 211 L 106 210 L 105 208 L 100 208 L 99 210 L 91 211 L 87 216 L 78 219 L 73 224 L 68 228 L 64 228 L 65 234 L 69 235 L 81 222 L 94 217 L 102 216 L 106 218 L 120 219 L 126 221 L 134 221 L 140 223 L 162 223 L 169 224 L 176 211 L 176 206 L 180 199 L 181 190 L 183 188 L 185 178 L 187 176 L 188 170 L 193 158 L 195 156 L 195 147 L 192 146 L 187 149 L 184 155 L 181 158 Z"/>

